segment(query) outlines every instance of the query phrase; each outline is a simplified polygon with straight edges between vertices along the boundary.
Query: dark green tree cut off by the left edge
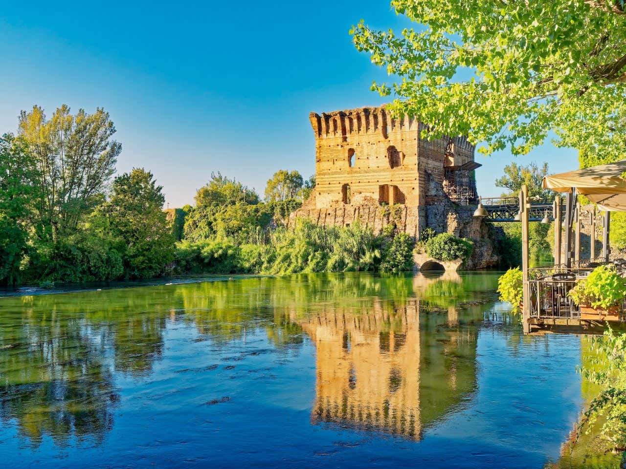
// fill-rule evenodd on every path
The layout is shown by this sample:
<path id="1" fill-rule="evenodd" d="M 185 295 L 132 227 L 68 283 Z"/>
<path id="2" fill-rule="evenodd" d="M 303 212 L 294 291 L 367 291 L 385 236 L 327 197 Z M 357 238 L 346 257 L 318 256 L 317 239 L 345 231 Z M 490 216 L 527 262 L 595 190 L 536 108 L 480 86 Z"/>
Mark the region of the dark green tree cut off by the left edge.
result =
<path id="1" fill-rule="evenodd" d="M 0 284 L 15 285 L 28 248 L 28 218 L 37 193 L 35 161 L 21 138 L 0 138 Z"/>

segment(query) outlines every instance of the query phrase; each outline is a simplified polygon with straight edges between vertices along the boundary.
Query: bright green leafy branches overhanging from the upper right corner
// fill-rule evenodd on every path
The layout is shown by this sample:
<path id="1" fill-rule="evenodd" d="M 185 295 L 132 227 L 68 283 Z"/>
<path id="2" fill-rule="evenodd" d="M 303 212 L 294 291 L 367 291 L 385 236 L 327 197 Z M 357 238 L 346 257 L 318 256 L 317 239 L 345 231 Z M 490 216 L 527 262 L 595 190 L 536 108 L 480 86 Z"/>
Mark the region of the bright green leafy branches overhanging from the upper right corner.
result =
<path id="1" fill-rule="evenodd" d="M 626 14 L 622 0 L 393 0 L 416 28 L 377 31 L 362 21 L 354 43 L 396 83 L 395 114 L 425 133 L 468 135 L 484 153 L 525 154 L 553 129 L 586 155 L 625 153 Z M 622 156 L 623 158 L 623 156 Z"/>

